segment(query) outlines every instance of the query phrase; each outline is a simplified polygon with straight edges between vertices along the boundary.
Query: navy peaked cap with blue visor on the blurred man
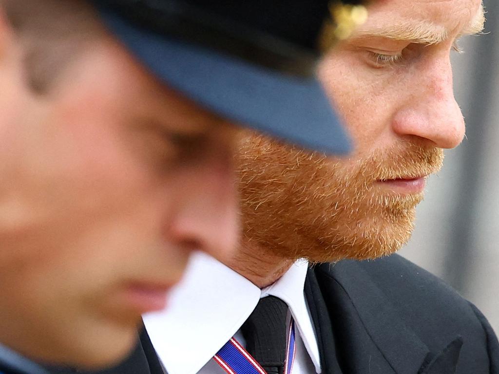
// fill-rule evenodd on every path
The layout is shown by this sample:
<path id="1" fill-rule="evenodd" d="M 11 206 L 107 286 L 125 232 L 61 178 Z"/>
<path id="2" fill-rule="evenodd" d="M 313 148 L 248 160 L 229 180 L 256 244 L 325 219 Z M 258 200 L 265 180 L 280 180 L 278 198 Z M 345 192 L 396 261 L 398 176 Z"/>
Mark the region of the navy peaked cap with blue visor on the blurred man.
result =
<path id="1" fill-rule="evenodd" d="M 91 2 L 139 61 L 199 105 L 309 150 L 349 152 L 314 74 L 331 1 Z"/>

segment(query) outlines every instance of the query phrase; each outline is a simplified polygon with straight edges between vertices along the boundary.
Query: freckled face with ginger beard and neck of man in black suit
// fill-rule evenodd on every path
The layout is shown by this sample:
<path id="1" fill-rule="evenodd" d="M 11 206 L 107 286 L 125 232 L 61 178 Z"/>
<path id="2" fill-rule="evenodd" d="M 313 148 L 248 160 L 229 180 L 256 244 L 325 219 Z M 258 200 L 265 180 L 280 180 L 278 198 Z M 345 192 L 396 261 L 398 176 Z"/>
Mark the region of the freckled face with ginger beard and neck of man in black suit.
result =
<path id="1" fill-rule="evenodd" d="M 290 259 L 373 258 L 409 240 L 423 194 L 394 192 L 377 180 L 435 173 L 443 149 L 463 140 L 450 53 L 479 11 L 480 0 L 372 1 L 367 22 L 318 67 L 354 153 L 326 160 L 246 137 L 238 157 L 245 237 L 230 266 L 266 285 Z M 429 30 L 421 24 L 445 40 L 427 45 L 372 32 Z"/>

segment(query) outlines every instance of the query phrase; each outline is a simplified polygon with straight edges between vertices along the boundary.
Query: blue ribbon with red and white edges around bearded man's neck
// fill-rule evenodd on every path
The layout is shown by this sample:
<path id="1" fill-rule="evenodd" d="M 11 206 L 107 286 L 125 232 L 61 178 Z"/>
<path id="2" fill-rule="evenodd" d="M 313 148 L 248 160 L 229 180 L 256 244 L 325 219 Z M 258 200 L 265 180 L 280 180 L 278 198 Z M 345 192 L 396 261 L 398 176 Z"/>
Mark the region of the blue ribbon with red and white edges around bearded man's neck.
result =
<path id="1" fill-rule="evenodd" d="M 284 363 L 285 374 L 290 374 L 293 370 L 295 352 L 294 321 L 291 318 Z M 231 338 L 213 358 L 228 374 L 266 374 L 260 364 L 234 338 Z"/>

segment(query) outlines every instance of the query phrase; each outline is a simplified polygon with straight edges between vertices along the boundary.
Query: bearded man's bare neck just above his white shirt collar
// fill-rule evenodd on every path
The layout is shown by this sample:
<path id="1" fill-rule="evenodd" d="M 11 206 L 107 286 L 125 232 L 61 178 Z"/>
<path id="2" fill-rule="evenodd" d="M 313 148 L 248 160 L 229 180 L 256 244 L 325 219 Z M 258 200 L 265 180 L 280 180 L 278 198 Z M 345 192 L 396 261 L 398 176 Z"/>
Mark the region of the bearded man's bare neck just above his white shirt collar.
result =
<path id="1" fill-rule="evenodd" d="M 261 246 L 243 243 L 236 256 L 222 262 L 257 287 L 263 288 L 278 280 L 294 260 L 269 253 Z"/>

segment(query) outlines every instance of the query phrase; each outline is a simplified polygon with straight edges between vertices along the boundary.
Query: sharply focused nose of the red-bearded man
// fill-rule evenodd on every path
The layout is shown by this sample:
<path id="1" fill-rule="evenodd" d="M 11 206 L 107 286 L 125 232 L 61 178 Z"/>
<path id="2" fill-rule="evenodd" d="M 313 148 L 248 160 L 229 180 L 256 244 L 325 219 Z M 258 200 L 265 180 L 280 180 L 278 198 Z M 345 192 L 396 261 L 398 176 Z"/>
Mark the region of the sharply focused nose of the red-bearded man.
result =
<path id="1" fill-rule="evenodd" d="M 393 130 L 454 148 L 465 135 L 464 118 L 454 97 L 449 54 L 422 61 L 415 73 L 405 104 L 393 118 Z"/>

